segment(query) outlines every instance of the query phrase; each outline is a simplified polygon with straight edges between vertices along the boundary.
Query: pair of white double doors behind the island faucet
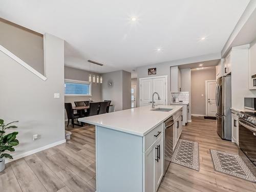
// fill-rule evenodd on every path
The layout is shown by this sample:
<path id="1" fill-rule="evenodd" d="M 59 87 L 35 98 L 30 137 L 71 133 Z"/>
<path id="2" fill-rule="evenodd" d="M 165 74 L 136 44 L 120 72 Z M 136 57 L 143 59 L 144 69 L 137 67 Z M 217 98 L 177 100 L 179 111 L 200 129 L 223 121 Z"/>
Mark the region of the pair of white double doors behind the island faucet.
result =
<path id="1" fill-rule="evenodd" d="M 158 100 L 157 94 L 154 96 L 155 104 L 166 104 L 166 78 L 140 79 L 140 106 L 152 104 L 152 94 L 157 92 L 160 96 Z"/>

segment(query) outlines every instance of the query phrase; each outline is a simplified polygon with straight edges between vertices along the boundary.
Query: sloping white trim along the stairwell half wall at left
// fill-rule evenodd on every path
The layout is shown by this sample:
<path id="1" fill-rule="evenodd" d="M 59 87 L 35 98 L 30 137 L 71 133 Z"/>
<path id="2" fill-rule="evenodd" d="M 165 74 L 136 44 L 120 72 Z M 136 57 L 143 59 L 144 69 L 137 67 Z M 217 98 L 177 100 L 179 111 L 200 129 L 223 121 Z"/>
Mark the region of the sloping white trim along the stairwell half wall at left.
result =
<path id="1" fill-rule="evenodd" d="M 13 60 L 15 60 L 16 62 L 18 62 L 20 65 L 22 65 L 23 67 L 25 67 L 27 70 L 29 70 L 30 72 L 34 73 L 36 76 L 38 76 L 39 78 L 41 78 L 42 80 L 46 81 L 47 77 L 45 77 L 44 75 L 40 74 L 38 71 L 36 71 L 34 68 L 32 68 L 31 66 L 29 66 L 26 62 L 24 62 L 22 59 L 18 58 L 16 55 L 14 55 L 12 52 L 10 52 L 9 50 L 7 50 L 6 48 L 4 48 L 3 46 L 0 45 L 0 51 L 2 51 L 3 53 L 5 53 L 7 56 L 11 57 Z"/>

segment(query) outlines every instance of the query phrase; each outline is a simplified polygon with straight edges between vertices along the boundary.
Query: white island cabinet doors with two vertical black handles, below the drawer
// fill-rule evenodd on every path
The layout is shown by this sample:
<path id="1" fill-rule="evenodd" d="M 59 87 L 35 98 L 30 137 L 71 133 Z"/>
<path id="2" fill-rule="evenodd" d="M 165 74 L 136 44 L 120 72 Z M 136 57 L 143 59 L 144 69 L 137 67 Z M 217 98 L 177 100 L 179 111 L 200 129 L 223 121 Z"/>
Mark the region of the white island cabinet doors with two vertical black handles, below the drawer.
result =
<path id="1" fill-rule="evenodd" d="M 163 177 L 163 134 L 145 152 L 144 192 L 156 192 Z"/>

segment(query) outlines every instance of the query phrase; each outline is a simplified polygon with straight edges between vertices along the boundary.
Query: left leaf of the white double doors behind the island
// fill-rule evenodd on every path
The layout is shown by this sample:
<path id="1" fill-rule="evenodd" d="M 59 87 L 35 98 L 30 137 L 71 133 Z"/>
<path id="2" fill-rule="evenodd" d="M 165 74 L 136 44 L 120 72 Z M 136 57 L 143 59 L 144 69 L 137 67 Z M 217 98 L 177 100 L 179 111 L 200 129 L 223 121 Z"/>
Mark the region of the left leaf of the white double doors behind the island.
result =
<path id="1" fill-rule="evenodd" d="M 140 106 L 151 104 L 152 102 L 152 79 L 140 80 Z"/>

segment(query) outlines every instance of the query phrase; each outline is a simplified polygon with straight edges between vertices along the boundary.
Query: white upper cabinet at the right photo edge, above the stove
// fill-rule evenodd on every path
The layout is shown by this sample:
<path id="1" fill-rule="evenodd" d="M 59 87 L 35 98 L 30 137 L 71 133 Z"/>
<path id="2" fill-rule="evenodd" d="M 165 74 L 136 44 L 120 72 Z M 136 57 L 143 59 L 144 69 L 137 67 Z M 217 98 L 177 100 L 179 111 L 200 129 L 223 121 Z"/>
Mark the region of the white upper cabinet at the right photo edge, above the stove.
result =
<path id="1" fill-rule="evenodd" d="M 249 89 L 256 90 L 256 41 L 249 49 Z"/>

